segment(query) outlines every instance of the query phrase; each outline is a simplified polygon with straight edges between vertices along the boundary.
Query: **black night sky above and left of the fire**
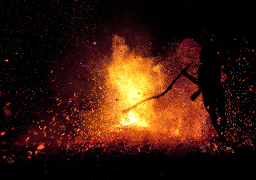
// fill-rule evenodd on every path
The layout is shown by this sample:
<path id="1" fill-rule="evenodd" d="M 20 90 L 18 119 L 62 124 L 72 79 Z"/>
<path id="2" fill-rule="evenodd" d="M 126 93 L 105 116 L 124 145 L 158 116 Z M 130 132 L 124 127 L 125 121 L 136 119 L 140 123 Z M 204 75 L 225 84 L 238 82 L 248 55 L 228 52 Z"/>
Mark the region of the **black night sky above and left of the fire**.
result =
<path id="1" fill-rule="evenodd" d="M 70 66 L 65 62 L 69 53 L 63 52 L 78 51 L 79 41 L 92 44 L 113 34 L 143 35 L 158 54 L 162 44 L 176 40 L 191 38 L 201 44 L 205 30 L 220 41 L 243 38 L 255 48 L 253 3 L 223 2 L 1 1 L 0 91 L 16 116 L 9 125 L 1 112 L 1 124 L 7 129 L 14 124 L 26 126 L 41 118 L 38 114 L 47 111 L 56 96 L 69 99 L 52 88 L 51 71 Z"/>

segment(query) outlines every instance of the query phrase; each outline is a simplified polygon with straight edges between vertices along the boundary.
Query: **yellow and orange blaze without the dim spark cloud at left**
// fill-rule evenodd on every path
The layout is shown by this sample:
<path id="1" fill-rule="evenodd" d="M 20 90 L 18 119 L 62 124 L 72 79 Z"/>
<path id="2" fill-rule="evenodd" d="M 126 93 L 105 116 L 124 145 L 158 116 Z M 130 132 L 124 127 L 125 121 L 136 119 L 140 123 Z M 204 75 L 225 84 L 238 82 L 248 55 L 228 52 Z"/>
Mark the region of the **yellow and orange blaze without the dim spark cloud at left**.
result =
<path id="1" fill-rule="evenodd" d="M 119 36 L 113 37 L 111 50 L 111 56 L 101 61 L 102 69 L 98 68 L 101 75 L 104 73 L 104 80 L 93 89 L 100 98 L 85 95 L 91 108 L 79 111 L 81 126 L 74 129 L 76 134 L 99 141 L 204 138 L 207 112 L 202 97 L 195 102 L 189 100 L 198 87 L 186 78 L 181 76 L 164 96 L 141 103 L 164 92 L 187 64 L 171 57 L 168 61 L 149 57 L 149 49 L 130 49 Z M 195 66 L 189 70 L 197 73 Z M 66 119 L 72 121 L 70 115 Z"/>

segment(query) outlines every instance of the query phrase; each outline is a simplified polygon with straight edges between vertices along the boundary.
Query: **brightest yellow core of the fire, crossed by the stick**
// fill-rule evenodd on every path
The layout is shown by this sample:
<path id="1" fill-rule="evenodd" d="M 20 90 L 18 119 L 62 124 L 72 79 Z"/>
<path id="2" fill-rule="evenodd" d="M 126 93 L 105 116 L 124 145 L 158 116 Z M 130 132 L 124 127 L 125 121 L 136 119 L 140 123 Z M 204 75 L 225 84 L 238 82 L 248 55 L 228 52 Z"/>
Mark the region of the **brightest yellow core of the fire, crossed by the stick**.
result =
<path id="1" fill-rule="evenodd" d="M 118 110 L 133 106 L 159 92 L 159 82 L 163 77 L 160 65 L 154 66 L 153 59 L 131 52 L 125 45 L 124 38 L 115 36 L 112 49 L 112 63 L 108 67 L 108 73 L 110 85 L 118 96 Z M 122 126 L 148 127 L 154 116 L 153 108 L 152 102 L 146 102 L 127 114 L 119 114 L 119 123 Z"/>

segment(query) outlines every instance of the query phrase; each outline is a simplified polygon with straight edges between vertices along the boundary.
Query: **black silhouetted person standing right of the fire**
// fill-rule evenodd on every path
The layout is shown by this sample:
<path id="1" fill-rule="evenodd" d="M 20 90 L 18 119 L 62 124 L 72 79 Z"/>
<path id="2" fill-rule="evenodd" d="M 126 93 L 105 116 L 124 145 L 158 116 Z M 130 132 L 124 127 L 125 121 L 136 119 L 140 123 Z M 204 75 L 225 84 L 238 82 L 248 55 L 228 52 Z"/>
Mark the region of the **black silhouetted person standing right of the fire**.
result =
<path id="1" fill-rule="evenodd" d="M 216 57 L 215 48 L 212 46 L 203 47 L 200 52 L 200 65 L 198 70 L 198 80 L 190 76 L 186 71 L 182 74 L 192 82 L 198 84 L 199 90 L 190 99 L 194 101 L 202 92 L 204 105 L 212 119 L 212 124 L 218 135 L 224 140 L 224 127 L 226 127 L 225 116 L 225 95 L 221 84 L 221 62 Z M 219 121 L 218 121 L 219 117 Z"/>

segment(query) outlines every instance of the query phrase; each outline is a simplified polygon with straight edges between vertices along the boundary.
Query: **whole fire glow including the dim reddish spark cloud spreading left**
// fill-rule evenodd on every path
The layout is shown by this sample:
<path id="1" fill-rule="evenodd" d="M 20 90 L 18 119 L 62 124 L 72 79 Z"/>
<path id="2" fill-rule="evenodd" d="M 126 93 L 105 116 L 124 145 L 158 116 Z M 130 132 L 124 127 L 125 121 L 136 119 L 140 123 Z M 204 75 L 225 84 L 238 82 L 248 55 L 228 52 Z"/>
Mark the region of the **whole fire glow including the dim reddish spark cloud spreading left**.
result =
<path id="1" fill-rule="evenodd" d="M 93 46 L 100 46 L 100 43 Z M 176 58 L 175 53 L 170 53 L 173 56 L 163 60 L 160 56 L 149 57 L 149 53 L 144 52 L 146 50 L 150 51 L 145 47 L 143 50 L 132 50 L 125 44 L 124 38 L 114 36 L 111 56 L 97 57 L 102 66 L 95 68 L 97 63 L 81 60 L 82 64 L 87 63 L 82 66 L 83 69 L 65 73 L 71 73 L 72 77 L 72 73 L 80 72 L 79 76 L 85 76 L 88 84 L 77 81 L 80 91 L 70 90 L 72 93 L 68 103 L 56 97 L 57 108 L 48 111 L 48 124 L 47 120 L 37 122 L 42 132 L 36 130 L 38 134 L 33 135 L 32 130 L 32 134 L 26 138 L 42 136 L 57 138 L 57 142 L 75 138 L 79 142 L 106 143 L 125 139 L 137 142 L 180 142 L 185 139 L 202 140 L 209 134 L 212 136 L 212 127 L 206 123 L 208 116 L 202 97 L 195 102 L 189 100 L 197 86 L 182 76 L 164 96 L 141 103 L 164 92 L 181 69 L 187 66 Z M 95 73 L 92 76 L 86 74 L 85 68 L 91 74 Z M 188 71 L 197 72 L 196 69 L 193 65 Z M 101 73 L 98 77 L 102 79 L 97 77 L 97 73 Z M 55 79 L 54 82 L 59 81 L 59 84 L 67 81 Z M 63 88 L 66 88 L 65 85 Z M 129 111 L 124 111 L 127 108 L 130 108 Z"/>

